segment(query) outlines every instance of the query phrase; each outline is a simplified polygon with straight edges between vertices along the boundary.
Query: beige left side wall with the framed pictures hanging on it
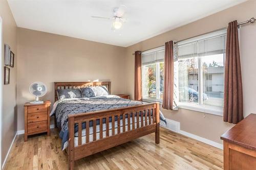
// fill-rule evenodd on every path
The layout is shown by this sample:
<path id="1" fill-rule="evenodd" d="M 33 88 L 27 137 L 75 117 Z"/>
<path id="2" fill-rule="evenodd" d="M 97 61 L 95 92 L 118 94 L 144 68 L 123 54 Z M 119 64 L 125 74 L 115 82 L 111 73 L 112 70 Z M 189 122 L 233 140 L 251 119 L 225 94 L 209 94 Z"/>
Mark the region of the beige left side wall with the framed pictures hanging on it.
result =
<path id="1" fill-rule="evenodd" d="M 2 163 L 9 150 L 11 142 L 17 131 L 17 47 L 16 23 L 6 0 L 0 0 L 0 16 L 3 19 L 3 53 L 2 62 L 4 71 L 4 44 L 11 47 L 15 54 L 14 68 L 10 68 L 10 84 L 3 85 L 3 119 L 2 119 Z M 3 83 L 4 84 L 4 83 Z M 2 97 L 2 96 L 1 96 Z"/>

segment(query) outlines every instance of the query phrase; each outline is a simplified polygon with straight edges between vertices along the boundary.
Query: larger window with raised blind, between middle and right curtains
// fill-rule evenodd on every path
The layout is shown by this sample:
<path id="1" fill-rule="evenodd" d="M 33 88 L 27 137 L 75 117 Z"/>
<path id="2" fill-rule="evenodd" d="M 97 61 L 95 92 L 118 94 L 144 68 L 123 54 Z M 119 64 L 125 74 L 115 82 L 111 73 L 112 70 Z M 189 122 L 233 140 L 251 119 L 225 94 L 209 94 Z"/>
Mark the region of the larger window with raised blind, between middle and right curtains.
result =
<path id="1" fill-rule="evenodd" d="M 223 30 L 177 43 L 181 107 L 222 115 L 225 40 Z"/>

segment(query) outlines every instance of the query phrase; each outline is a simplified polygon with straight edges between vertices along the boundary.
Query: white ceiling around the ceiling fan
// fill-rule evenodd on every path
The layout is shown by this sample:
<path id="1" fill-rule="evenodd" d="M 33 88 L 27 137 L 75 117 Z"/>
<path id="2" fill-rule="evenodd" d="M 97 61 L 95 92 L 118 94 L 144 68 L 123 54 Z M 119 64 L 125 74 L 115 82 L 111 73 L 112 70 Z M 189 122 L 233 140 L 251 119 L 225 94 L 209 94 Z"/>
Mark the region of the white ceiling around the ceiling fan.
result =
<path id="1" fill-rule="evenodd" d="M 8 0 L 18 27 L 129 46 L 246 0 Z M 113 31 L 113 9 L 125 5 L 127 22 Z"/>

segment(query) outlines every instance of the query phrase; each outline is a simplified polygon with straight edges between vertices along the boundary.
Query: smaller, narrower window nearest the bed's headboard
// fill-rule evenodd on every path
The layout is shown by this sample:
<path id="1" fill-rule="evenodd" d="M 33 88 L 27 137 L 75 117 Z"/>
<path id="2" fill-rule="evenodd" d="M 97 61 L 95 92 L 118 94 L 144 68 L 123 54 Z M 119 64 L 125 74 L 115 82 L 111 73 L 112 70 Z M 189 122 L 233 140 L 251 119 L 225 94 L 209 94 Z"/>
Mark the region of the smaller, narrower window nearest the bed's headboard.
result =
<path id="1" fill-rule="evenodd" d="M 142 99 L 163 99 L 164 46 L 142 53 Z"/>

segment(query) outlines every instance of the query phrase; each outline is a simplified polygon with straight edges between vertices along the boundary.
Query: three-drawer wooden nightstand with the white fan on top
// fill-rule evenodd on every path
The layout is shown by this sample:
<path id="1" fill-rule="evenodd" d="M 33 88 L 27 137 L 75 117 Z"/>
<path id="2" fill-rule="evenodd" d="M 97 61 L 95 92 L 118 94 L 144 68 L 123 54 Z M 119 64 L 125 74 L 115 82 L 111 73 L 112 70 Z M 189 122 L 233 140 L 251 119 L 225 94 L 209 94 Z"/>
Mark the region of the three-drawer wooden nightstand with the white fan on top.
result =
<path id="1" fill-rule="evenodd" d="M 28 135 L 47 132 L 50 135 L 50 101 L 42 104 L 24 105 L 25 110 L 25 135 L 24 141 L 28 140 Z"/>

